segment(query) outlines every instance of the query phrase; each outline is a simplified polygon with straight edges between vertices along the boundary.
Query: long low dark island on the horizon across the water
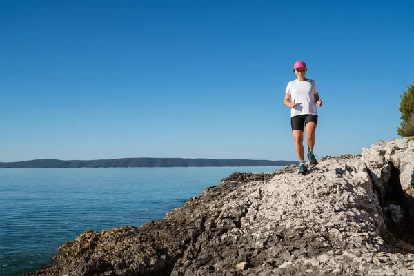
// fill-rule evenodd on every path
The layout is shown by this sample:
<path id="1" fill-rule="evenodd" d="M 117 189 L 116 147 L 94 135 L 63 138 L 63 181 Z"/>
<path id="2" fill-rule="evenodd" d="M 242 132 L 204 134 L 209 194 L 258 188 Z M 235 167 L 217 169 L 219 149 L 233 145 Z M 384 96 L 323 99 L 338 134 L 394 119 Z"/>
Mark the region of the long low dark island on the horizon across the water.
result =
<path id="1" fill-rule="evenodd" d="M 0 168 L 139 168 L 139 167 L 255 167 L 286 166 L 297 161 L 250 159 L 190 159 L 190 158 L 120 158 L 99 160 L 36 159 L 0 162 Z"/>

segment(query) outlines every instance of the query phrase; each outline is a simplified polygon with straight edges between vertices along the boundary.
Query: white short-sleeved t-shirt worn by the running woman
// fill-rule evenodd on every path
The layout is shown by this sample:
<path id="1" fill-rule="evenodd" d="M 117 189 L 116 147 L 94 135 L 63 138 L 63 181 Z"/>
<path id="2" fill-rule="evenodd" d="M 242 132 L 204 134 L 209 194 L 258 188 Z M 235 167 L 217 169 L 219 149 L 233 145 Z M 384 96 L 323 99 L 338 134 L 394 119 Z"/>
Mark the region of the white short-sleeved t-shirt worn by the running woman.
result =
<path id="1" fill-rule="evenodd" d="M 317 93 L 315 81 L 312 79 L 289 81 L 285 93 L 290 95 L 290 101 L 295 100 L 296 103 L 294 108 L 290 108 L 290 117 L 305 114 L 317 115 L 315 97 L 313 96 Z"/>

